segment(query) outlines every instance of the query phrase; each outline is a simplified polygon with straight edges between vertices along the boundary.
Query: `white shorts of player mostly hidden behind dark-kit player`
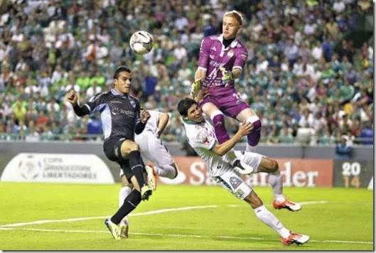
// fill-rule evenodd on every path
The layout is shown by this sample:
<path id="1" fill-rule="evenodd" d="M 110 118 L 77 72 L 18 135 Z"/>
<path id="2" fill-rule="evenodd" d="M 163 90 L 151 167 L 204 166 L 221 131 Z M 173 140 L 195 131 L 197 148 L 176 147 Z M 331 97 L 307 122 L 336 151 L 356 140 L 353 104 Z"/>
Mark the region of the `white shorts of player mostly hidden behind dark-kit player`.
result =
<path id="1" fill-rule="evenodd" d="M 142 134 L 134 137 L 134 141 L 140 146 L 141 158 L 144 163 L 152 161 L 158 167 L 175 163 L 166 146 L 153 132 L 143 131 Z M 123 174 L 122 169 L 120 169 L 120 176 Z"/>

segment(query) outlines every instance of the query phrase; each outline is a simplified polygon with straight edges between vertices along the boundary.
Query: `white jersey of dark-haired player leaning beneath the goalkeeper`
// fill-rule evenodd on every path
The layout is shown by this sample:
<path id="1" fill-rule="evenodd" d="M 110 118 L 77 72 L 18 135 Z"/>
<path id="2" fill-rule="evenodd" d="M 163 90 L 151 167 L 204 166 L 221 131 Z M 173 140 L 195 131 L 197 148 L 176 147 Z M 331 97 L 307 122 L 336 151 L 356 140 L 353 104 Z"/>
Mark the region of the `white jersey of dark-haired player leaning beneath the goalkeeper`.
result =
<path id="1" fill-rule="evenodd" d="M 213 126 L 207 122 L 196 123 L 183 120 L 183 123 L 186 127 L 188 143 L 208 164 L 210 176 L 220 176 L 226 171 L 232 171 L 232 166 L 228 162 L 227 154 L 218 156 L 212 151 L 215 144 L 217 144 Z"/>

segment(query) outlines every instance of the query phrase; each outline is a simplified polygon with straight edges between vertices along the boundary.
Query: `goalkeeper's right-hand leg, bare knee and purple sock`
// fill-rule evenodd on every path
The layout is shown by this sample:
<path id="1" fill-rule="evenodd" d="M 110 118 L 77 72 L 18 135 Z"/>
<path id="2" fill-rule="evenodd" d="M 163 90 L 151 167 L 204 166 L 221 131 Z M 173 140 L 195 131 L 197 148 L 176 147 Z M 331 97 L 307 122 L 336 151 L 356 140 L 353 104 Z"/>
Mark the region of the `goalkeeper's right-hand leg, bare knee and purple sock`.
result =
<path id="1" fill-rule="evenodd" d="M 260 136 L 261 136 L 261 120 L 254 112 L 252 108 L 246 108 L 237 115 L 236 118 L 240 122 L 251 122 L 253 124 L 253 130 L 251 133 L 247 135 L 247 147 L 246 151 L 255 151 L 255 146 L 259 144 Z"/>

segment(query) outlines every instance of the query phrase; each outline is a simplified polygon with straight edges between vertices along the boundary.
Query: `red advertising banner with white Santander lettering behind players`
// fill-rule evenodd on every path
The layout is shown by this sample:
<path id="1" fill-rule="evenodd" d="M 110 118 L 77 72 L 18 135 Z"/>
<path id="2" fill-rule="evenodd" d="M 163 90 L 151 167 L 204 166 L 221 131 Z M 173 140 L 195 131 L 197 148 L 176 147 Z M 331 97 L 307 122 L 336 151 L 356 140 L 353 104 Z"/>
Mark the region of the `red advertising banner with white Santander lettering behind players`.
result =
<path id="1" fill-rule="evenodd" d="M 171 180 L 158 178 L 159 183 L 215 185 L 208 175 L 206 163 L 196 156 L 174 156 L 179 174 Z M 284 175 L 284 186 L 292 187 L 333 187 L 333 160 L 276 158 L 279 170 Z M 253 186 L 269 186 L 267 173 L 245 176 Z"/>

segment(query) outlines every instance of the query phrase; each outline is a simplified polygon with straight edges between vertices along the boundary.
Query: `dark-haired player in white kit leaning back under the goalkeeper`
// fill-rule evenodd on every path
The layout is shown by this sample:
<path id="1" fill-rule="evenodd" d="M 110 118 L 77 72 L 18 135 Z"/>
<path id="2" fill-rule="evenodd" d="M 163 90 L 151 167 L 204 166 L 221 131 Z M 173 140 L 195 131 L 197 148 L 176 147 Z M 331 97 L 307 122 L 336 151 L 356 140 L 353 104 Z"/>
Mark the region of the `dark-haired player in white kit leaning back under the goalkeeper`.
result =
<path id="1" fill-rule="evenodd" d="M 198 99 L 204 95 L 205 90 L 200 90 Z M 178 103 L 178 111 L 182 116 L 188 143 L 195 149 L 208 165 L 210 176 L 227 190 L 241 200 L 245 200 L 253 208 L 256 216 L 265 224 L 281 235 L 283 244 L 304 244 L 308 242 L 308 235 L 301 235 L 286 229 L 279 220 L 265 208 L 262 200 L 254 193 L 250 185 L 242 179 L 242 174 L 234 170 L 231 165 L 233 156 L 237 156 L 244 163 L 253 167 L 252 173 L 269 173 L 269 183 L 274 192 L 274 208 L 286 208 L 291 211 L 301 209 L 301 205 L 287 200 L 282 193 L 282 177 L 278 163 L 269 157 L 247 151 L 233 151 L 233 147 L 243 136 L 252 131 L 250 122 L 242 122 L 237 133 L 229 140 L 218 144 L 213 127 L 205 122 L 198 102 L 186 98 Z"/>

